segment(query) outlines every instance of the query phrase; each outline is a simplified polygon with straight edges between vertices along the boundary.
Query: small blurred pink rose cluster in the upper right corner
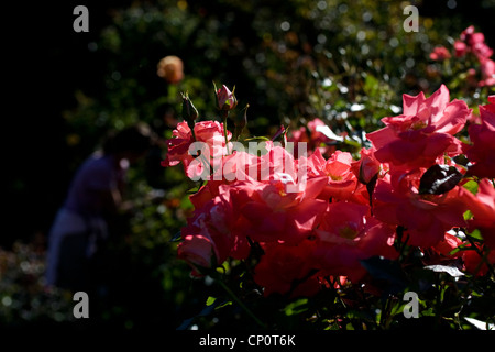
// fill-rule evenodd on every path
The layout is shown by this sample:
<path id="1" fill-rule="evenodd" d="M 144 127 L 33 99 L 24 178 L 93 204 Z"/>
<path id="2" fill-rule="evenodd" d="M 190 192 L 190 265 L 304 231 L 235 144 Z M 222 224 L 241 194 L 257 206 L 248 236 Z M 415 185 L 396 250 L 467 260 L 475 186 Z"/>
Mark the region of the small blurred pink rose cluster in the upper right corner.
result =
<path id="1" fill-rule="evenodd" d="M 491 59 L 493 50 L 486 45 L 483 33 L 475 32 L 473 25 L 466 28 L 462 31 L 460 38 L 454 42 L 453 48 L 455 57 L 463 57 L 469 54 L 473 54 L 476 57 L 482 76 L 477 86 L 495 86 L 495 62 Z M 430 58 L 435 61 L 443 61 L 450 57 L 450 52 L 444 46 L 437 46 L 430 53 Z M 470 68 L 468 70 L 468 79 L 472 80 L 475 76 L 476 70 Z"/>

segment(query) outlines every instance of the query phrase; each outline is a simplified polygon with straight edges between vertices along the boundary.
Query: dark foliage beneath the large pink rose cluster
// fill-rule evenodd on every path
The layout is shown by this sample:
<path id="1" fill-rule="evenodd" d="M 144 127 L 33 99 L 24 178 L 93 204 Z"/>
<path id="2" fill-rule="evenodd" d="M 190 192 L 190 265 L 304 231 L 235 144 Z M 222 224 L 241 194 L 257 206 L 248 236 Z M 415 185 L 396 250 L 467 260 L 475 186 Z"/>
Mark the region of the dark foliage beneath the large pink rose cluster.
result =
<path id="1" fill-rule="evenodd" d="M 436 271 L 424 267 L 418 249 L 405 246 L 398 262 L 371 257 L 365 265 L 367 284 L 328 286 L 311 298 L 273 294 L 263 297 L 245 265 L 239 261 L 224 263 L 226 271 L 215 279 L 220 292 L 213 292 L 196 316 L 186 319 L 179 329 L 198 330 L 475 330 L 469 319 L 494 324 L 495 309 L 491 304 L 494 280 L 490 275 L 458 276 L 452 266 L 439 265 Z M 226 282 L 226 284 L 220 284 Z M 221 290 L 228 285 L 232 292 Z M 418 317 L 406 318 L 410 299 L 418 295 Z M 243 309 L 238 300 L 245 304 Z M 249 311 L 248 311 L 249 310 Z M 256 317 L 253 319 L 252 317 Z M 468 318 L 468 319 L 466 319 Z M 482 324 L 483 326 L 483 324 Z M 493 329 L 493 328 L 492 328 Z"/>

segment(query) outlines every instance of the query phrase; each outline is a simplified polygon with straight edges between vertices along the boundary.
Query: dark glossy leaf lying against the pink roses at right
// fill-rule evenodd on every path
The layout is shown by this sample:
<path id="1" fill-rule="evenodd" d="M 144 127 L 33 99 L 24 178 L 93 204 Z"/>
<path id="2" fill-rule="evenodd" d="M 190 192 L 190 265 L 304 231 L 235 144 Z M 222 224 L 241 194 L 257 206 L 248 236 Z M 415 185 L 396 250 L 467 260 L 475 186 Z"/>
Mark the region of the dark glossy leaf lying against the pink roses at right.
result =
<path id="1" fill-rule="evenodd" d="M 433 165 L 426 170 L 419 182 L 420 195 L 441 195 L 451 190 L 462 179 L 462 174 L 448 165 Z"/>

